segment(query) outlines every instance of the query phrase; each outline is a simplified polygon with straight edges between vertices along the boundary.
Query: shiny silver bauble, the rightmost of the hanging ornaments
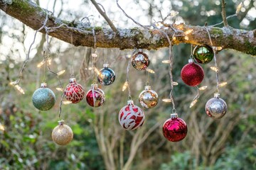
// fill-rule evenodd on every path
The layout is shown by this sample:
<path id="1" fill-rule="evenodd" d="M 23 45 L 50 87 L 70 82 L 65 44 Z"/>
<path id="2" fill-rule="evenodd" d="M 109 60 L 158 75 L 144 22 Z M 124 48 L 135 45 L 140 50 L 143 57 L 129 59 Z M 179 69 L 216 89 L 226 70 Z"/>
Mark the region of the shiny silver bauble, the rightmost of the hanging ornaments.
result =
<path id="1" fill-rule="evenodd" d="M 210 98 L 210 100 L 206 103 L 206 114 L 213 119 L 220 119 L 223 118 L 225 113 L 228 111 L 228 106 L 223 101 L 222 98 L 220 98 L 220 94 L 214 94 L 213 98 Z"/>

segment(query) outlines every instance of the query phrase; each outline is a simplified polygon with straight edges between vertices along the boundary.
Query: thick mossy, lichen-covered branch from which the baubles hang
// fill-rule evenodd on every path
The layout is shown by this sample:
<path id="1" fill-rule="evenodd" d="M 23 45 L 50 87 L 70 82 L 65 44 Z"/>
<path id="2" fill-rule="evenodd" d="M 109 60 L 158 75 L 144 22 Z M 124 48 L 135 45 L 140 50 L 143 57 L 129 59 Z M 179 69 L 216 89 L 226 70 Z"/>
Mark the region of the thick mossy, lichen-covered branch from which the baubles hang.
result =
<path id="1" fill-rule="evenodd" d="M 42 23 L 46 20 L 46 15 L 50 13 L 29 0 L 0 0 L 0 8 L 8 15 L 13 16 L 35 30 L 41 28 Z M 62 26 L 50 32 L 49 35 L 65 42 L 71 43 L 72 41 L 72 44 L 75 46 L 93 47 L 93 27 L 87 23 L 64 21 L 60 18 L 55 18 L 53 15 L 49 15 L 49 21 L 46 26 L 58 27 L 63 23 L 68 27 Z M 188 39 L 178 37 L 173 41 L 174 44 L 184 42 L 193 45 L 210 45 L 206 27 L 188 26 L 185 24 L 175 25 L 174 27 L 183 32 L 192 30 L 187 35 Z M 119 48 L 120 50 L 137 47 L 156 50 L 169 46 L 165 35 L 156 29 L 118 29 L 118 33 L 114 33 L 109 28 L 96 27 L 94 29 L 97 36 L 97 47 Z M 172 35 L 174 35 L 174 30 L 171 28 L 163 30 L 169 35 L 169 38 L 172 38 Z M 209 26 L 208 30 L 214 46 L 222 47 L 223 49 L 238 50 L 249 55 L 256 55 L 256 30 L 239 30 L 229 26 L 223 28 Z M 45 30 L 43 29 L 41 32 L 45 33 Z"/>

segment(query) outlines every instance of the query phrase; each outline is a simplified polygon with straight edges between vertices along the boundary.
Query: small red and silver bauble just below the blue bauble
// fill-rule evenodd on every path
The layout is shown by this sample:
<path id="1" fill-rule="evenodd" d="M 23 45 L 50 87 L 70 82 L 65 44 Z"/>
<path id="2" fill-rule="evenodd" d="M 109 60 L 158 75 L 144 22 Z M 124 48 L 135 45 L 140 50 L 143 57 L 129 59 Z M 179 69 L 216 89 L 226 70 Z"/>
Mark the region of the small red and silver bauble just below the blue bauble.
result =
<path id="1" fill-rule="evenodd" d="M 86 101 L 92 107 L 100 107 L 105 103 L 105 94 L 97 84 L 92 84 L 91 89 L 86 94 Z"/>

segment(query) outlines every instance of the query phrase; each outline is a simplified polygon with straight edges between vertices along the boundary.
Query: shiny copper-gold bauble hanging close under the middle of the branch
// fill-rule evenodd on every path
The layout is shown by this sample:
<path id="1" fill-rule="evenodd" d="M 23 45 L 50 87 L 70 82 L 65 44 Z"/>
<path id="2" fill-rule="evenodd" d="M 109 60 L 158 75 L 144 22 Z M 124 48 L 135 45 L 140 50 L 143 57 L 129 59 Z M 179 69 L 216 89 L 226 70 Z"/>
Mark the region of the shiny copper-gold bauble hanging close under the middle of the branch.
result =
<path id="1" fill-rule="evenodd" d="M 149 56 L 142 50 L 132 56 L 132 66 L 137 70 L 145 70 L 146 67 L 149 67 L 149 63 Z"/>

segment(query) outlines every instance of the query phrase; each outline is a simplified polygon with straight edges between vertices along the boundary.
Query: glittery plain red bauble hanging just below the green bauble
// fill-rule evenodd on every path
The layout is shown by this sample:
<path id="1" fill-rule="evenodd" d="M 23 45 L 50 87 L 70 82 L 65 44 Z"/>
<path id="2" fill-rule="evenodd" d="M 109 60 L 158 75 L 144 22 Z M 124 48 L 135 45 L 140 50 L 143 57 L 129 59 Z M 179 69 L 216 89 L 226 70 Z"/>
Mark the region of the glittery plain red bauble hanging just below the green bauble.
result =
<path id="1" fill-rule="evenodd" d="M 201 84 L 204 77 L 203 68 L 193 62 L 193 60 L 188 60 L 188 64 L 186 64 L 181 69 L 181 79 L 188 86 L 197 86 Z"/>

